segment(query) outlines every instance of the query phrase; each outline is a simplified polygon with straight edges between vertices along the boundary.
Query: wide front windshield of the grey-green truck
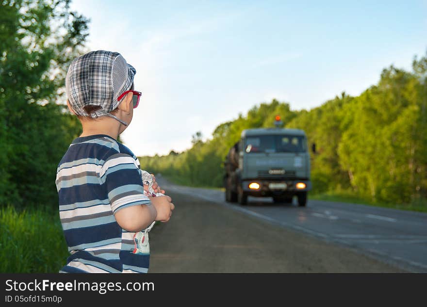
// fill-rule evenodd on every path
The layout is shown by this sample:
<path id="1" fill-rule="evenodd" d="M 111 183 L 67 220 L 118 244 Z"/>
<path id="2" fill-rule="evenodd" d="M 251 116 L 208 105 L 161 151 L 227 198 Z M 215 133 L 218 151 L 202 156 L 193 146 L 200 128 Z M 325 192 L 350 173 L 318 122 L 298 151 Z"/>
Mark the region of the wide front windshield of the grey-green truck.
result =
<path id="1" fill-rule="evenodd" d="M 245 151 L 251 152 L 305 152 L 307 151 L 304 136 L 296 135 L 260 135 L 248 136 L 245 140 Z"/>

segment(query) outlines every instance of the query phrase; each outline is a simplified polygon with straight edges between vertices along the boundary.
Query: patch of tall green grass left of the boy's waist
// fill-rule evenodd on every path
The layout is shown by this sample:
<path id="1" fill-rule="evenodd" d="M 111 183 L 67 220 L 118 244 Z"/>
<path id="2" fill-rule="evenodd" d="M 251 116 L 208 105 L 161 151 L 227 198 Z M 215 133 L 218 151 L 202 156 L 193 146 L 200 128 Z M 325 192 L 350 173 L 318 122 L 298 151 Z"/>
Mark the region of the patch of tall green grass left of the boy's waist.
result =
<path id="1" fill-rule="evenodd" d="M 68 256 L 57 211 L 0 208 L 0 272 L 58 273 Z"/>

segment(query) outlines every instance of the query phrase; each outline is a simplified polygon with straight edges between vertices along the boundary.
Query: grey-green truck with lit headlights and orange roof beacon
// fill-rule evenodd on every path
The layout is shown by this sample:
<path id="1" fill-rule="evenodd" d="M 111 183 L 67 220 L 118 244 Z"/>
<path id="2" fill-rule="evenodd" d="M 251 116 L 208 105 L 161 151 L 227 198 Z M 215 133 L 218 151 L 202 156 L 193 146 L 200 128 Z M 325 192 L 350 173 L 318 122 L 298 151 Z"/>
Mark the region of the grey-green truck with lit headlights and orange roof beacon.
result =
<path id="1" fill-rule="evenodd" d="M 245 129 L 224 161 L 225 198 L 247 204 L 247 196 L 273 197 L 275 203 L 307 204 L 310 181 L 310 153 L 301 129 Z M 315 145 L 312 146 L 315 152 Z"/>

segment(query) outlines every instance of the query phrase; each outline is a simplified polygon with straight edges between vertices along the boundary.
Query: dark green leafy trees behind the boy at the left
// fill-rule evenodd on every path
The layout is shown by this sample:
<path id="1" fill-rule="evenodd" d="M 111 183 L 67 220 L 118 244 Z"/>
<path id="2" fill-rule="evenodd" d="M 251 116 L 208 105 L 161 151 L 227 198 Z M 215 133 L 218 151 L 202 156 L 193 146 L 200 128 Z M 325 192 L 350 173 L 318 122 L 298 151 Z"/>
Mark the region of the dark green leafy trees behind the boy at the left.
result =
<path id="1" fill-rule="evenodd" d="M 68 0 L 0 5 L 0 206 L 57 209 L 57 165 L 82 128 L 56 102 L 88 20 Z"/>

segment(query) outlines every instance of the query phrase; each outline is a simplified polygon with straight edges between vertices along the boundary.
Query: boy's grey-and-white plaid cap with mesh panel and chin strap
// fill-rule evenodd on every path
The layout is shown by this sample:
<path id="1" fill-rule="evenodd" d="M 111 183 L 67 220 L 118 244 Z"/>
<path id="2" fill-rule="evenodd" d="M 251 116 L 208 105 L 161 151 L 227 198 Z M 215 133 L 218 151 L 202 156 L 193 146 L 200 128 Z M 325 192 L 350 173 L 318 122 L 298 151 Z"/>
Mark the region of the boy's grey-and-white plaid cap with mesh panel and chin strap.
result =
<path id="1" fill-rule="evenodd" d="M 118 52 L 97 50 L 75 58 L 65 81 L 71 107 L 78 115 L 90 116 L 84 106 L 101 106 L 91 117 L 110 116 L 127 126 L 110 112 L 120 104 L 117 97 L 131 88 L 135 73 Z"/>

